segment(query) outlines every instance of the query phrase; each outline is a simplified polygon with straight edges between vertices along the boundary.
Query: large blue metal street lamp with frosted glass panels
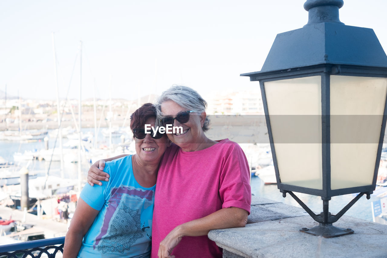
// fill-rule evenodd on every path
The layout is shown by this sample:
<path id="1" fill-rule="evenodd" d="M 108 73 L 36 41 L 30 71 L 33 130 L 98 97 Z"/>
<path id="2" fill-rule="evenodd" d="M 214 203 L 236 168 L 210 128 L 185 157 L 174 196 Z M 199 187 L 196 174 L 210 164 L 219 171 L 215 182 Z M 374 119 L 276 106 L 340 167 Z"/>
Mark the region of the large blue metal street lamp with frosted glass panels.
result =
<path id="1" fill-rule="evenodd" d="M 375 190 L 386 125 L 387 56 L 372 29 L 339 21 L 342 0 L 307 0 L 308 24 L 277 34 L 259 81 L 278 189 L 319 225 L 303 232 L 351 234 L 332 225 Z M 293 192 L 321 196 L 314 214 Z M 358 194 L 339 213 L 332 196 Z"/>

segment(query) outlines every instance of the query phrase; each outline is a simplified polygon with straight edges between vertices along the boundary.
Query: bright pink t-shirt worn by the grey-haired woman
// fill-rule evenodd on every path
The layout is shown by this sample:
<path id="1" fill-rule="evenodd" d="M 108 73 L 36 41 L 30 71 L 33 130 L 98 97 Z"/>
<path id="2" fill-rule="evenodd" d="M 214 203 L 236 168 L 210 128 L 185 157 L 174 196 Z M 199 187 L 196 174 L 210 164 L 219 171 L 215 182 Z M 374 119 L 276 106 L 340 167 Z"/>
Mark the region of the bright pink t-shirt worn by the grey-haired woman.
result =
<path id="1" fill-rule="evenodd" d="M 156 184 L 152 226 L 152 257 L 176 226 L 222 208 L 250 214 L 249 168 L 240 146 L 224 139 L 200 151 L 186 152 L 172 144 L 164 153 Z M 176 258 L 222 257 L 222 249 L 207 236 L 183 237 L 173 249 Z"/>

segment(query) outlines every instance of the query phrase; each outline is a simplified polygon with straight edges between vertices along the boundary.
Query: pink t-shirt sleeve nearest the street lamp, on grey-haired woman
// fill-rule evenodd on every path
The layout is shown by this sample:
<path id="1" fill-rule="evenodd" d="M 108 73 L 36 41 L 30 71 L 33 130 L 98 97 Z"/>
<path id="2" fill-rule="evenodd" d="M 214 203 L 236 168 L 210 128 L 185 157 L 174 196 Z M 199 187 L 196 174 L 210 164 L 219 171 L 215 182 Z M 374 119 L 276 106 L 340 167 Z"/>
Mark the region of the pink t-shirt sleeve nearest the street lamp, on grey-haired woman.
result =
<path id="1" fill-rule="evenodd" d="M 231 144 L 230 144 L 231 143 Z M 222 208 L 236 207 L 250 214 L 251 187 L 247 158 L 237 143 L 225 144 L 224 162 L 219 183 Z"/>

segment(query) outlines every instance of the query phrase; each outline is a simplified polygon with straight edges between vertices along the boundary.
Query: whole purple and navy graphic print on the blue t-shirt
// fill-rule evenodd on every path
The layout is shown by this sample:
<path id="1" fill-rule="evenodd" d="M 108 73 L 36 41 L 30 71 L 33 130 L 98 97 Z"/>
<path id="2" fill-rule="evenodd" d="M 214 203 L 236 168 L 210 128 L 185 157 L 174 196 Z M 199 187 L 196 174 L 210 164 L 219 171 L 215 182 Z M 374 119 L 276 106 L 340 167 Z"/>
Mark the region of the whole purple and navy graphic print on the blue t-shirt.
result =
<path id="1" fill-rule="evenodd" d="M 137 239 L 150 236 L 140 216 L 153 203 L 154 191 L 129 187 L 111 189 L 101 232 L 93 245 L 98 251 L 124 253 Z M 153 210 L 153 209 L 152 209 Z M 145 226 L 145 227 L 144 227 Z"/>

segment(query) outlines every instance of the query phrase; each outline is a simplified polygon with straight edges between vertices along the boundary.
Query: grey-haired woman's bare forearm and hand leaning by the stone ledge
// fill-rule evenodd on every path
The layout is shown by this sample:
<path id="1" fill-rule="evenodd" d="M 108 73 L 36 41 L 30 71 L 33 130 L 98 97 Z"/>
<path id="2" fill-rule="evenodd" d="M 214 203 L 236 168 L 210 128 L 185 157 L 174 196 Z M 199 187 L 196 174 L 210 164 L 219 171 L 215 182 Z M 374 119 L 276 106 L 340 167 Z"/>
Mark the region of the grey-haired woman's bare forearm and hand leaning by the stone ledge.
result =
<path id="1" fill-rule="evenodd" d="M 184 236 L 205 236 L 212 229 L 244 227 L 247 223 L 247 216 L 246 210 L 230 207 L 178 225 L 161 241 L 158 256 L 159 258 L 174 257 L 170 254 Z"/>

